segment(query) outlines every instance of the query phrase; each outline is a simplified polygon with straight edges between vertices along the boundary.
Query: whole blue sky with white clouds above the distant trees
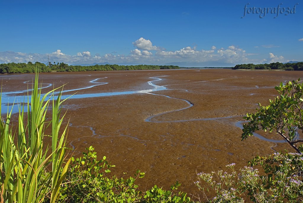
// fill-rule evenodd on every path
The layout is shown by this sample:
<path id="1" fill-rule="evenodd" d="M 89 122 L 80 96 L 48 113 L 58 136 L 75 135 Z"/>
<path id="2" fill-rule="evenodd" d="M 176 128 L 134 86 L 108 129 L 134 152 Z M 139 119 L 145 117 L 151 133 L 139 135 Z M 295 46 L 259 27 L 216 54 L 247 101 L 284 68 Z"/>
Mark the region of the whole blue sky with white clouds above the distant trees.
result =
<path id="1" fill-rule="evenodd" d="M 264 18 L 248 13 L 280 3 L 277 18 L 270 12 Z M 295 5 L 295 13 L 284 15 L 282 8 Z M 1 1 L 0 7 L 0 63 L 37 57 L 46 63 L 47 55 L 68 64 L 203 67 L 303 61 L 302 0 L 12 0 Z"/>

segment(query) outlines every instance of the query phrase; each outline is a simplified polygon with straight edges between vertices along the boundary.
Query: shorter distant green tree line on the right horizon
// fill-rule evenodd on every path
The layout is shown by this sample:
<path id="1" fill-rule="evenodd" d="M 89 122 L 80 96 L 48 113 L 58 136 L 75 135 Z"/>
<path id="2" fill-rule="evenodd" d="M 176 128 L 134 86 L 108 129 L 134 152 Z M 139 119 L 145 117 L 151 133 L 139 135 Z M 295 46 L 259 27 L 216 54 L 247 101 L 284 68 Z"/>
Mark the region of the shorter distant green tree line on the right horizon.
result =
<path id="1" fill-rule="evenodd" d="M 250 69 L 250 70 L 303 70 L 303 62 L 298 63 L 265 63 L 265 64 L 238 64 L 232 69 Z"/>

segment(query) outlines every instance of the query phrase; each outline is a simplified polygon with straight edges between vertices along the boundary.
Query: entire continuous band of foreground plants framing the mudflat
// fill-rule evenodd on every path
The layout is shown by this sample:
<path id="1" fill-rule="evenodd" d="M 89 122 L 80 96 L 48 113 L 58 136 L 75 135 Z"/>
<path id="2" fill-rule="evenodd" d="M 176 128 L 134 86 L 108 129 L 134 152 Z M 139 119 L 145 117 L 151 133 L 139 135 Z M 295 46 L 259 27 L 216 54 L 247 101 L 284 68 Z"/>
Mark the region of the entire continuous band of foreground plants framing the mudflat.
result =
<path id="1" fill-rule="evenodd" d="M 249 167 L 198 173 L 195 184 L 201 194 L 178 191 L 176 182 L 170 190 L 154 186 L 145 191 L 136 184 L 145 173 L 136 171 L 129 178 L 110 175 L 106 157 L 98 159 L 88 147 L 82 157 L 66 157 L 67 126 L 62 127 L 61 93 L 41 95 L 38 75 L 26 105 L 19 105 L 18 125 L 11 123 L 10 112 L 0 122 L 0 200 L 1 202 L 302 202 L 303 155 L 298 139 L 302 131 L 301 81 L 280 84 L 280 96 L 255 114 L 247 114 L 242 139 L 256 130 L 276 131 L 296 153 L 275 153 L 255 157 Z M 50 98 L 48 98 L 50 96 Z M 51 118 L 47 119 L 51 104 Z M 27 108 L 27 113 L 24 112 Z M 1 110 L 1 109 L 0 109 Z M 27 114 L 25 116 L 25 114 Z M 45 130 L 51 134 L 46 134 Z M 61 130 L 60 130 L 61 129 Z M 59 133 L 61 132 L 61 133 Z M 51 139 L 51 146 L 44 140 Z M 261 166 L 261 167 L 260 167 Z M 257 169 L 258 167 L 258 169 Z M 125 174 L 126 175 L 126 174 Z"/>

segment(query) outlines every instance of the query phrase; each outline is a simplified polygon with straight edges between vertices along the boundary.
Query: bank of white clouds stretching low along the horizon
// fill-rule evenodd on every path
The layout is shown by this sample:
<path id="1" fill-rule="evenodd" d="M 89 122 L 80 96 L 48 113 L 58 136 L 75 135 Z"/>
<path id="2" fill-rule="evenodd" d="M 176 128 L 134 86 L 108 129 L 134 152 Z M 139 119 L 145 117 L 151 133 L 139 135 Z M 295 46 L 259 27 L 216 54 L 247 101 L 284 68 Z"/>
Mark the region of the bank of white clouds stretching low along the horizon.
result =
<path id="1" fill-rule="evenodd" d="M 303 41 L 299 39 L 299 41 Z M 130 50 L 128 55 L 108 53 L 103 56 L 96 53 L 92 55 L 89 51 L 77 52 L 75 55 L 67 55 L 61 49 L 51 53 L 22 53 L 22 52 L 0 52 L 0 63 L 27 63 L 28 61 L 47 63 L 48 56 L 51 62 L 64 62 L 68 64 L 177 64 L 180 66 L 190 66 L 193 64 L 205 66 L 218 64 L 218 66 L 234 66 L 242 63 L 274 63 L 288 62 L 283 56 L 276 56 L 268 52 L 268 57 L 264 59 L 250 59 L 249 56 L 258 55 L 247 53 L 238 46 L 228 46 L 225 48 L 210 47 L 208 50 L 197 50 L 196 47 L 184 47 L 179 50 L 167 51 L 160 46 L 152 44 L 151 40 L 143 37 L 132 42 L 135 49 Z M 262 45 L 263 47 L 273 47 L 274 45 Z"/>

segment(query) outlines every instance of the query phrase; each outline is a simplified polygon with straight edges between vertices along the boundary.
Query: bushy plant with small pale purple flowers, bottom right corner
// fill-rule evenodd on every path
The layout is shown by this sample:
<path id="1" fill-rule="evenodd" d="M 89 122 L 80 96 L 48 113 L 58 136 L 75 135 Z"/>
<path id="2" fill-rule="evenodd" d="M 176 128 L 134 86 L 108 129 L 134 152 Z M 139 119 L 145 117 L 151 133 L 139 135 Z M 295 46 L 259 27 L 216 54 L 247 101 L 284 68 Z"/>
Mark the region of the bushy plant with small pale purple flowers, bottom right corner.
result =
<path id="1" fill-rule="evenodd" d="M 207 202 L 303 201 L 302 154 L 275 153 L 255 157 L 249 164 L 250 167 L 243 167 L 238 173 L 234 163 L 226 165 L 225 172 L 198 173 L 195 184 L 203 191 Z M 257 165 L 262 171 L 255 168 Z M 215 193 L 213 198 L 209 197 L 209 189 Z"/>

